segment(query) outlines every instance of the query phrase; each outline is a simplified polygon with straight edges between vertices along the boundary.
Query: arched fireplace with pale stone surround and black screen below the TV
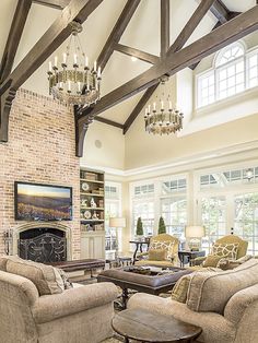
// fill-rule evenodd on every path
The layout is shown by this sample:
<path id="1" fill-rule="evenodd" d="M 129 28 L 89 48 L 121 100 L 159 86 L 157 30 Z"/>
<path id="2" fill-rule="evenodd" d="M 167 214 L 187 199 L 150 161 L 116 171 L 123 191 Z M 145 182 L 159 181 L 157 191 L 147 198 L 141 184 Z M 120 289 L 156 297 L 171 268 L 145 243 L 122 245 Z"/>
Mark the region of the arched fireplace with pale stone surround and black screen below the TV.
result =
<path id="1" fill-rule="evenodd" d="M 70 258 L 70 229 L 59 223 L 30 223 L 20 227 L 14 237 L 14 255 L 43 263 Z"/>

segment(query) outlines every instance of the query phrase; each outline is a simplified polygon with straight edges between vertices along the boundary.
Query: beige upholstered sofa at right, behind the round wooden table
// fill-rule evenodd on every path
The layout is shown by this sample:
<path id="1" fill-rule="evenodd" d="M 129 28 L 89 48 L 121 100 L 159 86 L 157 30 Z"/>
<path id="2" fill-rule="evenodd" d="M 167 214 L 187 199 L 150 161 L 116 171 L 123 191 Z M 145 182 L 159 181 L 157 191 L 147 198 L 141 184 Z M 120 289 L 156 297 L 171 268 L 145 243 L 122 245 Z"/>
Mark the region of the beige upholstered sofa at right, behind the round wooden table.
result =
<path id="1" fill-rule="evenodd" d="M 198 342 L 258 342 L 258 260 L 230 271 L 196 272 L 186 304 L 138 293 L 128 308 L 144 308 L 199 326 L 202 334 Z"/>

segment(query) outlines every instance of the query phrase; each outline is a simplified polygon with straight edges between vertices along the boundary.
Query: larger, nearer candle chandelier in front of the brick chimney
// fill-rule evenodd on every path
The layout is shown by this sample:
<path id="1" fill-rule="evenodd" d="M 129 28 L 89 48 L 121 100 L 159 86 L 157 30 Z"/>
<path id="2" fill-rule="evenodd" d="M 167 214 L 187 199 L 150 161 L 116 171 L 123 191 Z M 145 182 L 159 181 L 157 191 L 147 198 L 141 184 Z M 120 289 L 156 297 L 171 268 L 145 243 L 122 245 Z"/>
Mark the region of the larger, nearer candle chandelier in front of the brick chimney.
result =
<path id="1" fill-rule="evenodd" d="M 72 33 L 67 50 L 62 54 L 62 61 L 58 64 L 57 56 L 54 64 L 49 61 L 49 94 L 68 105 L 90 106 L 99 99 L 101 67 L 97 68 L 95 61 L 94 68 L 90 69 L 89 58 L 78 36 L 82 32 L 82 25 L 78 22 L 70 25 Z"/>

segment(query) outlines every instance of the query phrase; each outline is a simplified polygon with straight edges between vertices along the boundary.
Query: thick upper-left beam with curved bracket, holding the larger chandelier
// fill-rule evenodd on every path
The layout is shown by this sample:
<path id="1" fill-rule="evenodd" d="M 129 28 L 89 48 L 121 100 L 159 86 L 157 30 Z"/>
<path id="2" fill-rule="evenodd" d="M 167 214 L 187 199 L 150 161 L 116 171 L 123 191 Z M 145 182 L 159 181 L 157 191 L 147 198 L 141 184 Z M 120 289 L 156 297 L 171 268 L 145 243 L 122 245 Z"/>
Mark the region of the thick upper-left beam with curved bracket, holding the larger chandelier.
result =
<path id="1" fill-rule="evenodd" d="M 1 88 L 1 129 L 0 140 L 8 141 L 10 99 L 13 93 L 34 73 L 35 70 L 69 37 L 72 21 L 83 23 L 103 0 L 71 0 L 54 24 L 47 29 L 15 70 L 7 78 Z M 7 87 L 7 84 L 10 84 Z M 10 93 L 11 91 L 11 93 Z"/>

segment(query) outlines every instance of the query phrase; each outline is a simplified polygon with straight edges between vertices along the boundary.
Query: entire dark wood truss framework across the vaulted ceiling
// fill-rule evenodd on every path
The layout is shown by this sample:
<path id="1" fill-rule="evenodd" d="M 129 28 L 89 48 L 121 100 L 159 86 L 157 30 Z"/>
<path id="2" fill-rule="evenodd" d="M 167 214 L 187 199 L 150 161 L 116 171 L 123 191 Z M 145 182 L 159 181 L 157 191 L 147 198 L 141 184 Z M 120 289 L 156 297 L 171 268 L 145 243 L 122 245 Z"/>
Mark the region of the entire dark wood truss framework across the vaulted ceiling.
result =
<path id="1" fill-rule="evenodd" d="M 14 13 L 11 31 L 5 45 L 0 68 L 0 141 L 8 141 L 9 114 L 17 88 L 71 34 L 72 21 L 83 23 L 103 0 L 20 0 Z M 62 12 L 49 29 L 36 43 L 26 57 L 11 72 L 20 38 L 32 5 L 37 2 L 60 9 Z M 113 92 L 106 94 L 95 106 L 89 108 L 74 106 L 77 156 L 83 154 L 83 142 L 89 126 L 93 120 L 112 125 L 126 133 L 141 113 L 146 102 L 159 86 L 159 79 L 164 74 L 173 75 L 184 68 L 194 69 L 198 62 L 225 47 L 226 45 L 255 32 L 258 28 L 258 5 L 245 13 L 228 11 L 221 0 L 200 0 L 200 4 L 183 28 L 176 40 L 169 46 L 169 0 L 161 0 L 161 52 L 160 56 L 119 44 L 119 40 L 134 14 L 140 0 L 128 0 L 117 20 L 97 63 L 105 68 L 113 52 L 119 51 L 134 56 L 151 64 L 151 68 Z M 218 19 L 213 31 L 184 48 L 186 42 L 208 11 Z M 146 90 L 124 125 L 98 117 L 106 109 Z"/>

